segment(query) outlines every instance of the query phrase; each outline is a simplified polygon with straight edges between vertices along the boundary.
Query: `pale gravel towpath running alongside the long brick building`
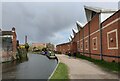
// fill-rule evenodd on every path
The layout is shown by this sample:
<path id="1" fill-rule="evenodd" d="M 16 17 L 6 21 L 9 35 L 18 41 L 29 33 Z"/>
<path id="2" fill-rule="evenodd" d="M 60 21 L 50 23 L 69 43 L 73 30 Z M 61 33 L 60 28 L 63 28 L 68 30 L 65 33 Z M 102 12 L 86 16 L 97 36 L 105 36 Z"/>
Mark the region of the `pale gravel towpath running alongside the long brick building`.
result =
<path id="1" fill-rule="evenodd" d="M 58 59 L 69 68 L 70 79 L 118 79 L 117 74 L 103 71 L 92 62 L 83 59 L 68 57 L 66 55 L 56 55 Z"/>

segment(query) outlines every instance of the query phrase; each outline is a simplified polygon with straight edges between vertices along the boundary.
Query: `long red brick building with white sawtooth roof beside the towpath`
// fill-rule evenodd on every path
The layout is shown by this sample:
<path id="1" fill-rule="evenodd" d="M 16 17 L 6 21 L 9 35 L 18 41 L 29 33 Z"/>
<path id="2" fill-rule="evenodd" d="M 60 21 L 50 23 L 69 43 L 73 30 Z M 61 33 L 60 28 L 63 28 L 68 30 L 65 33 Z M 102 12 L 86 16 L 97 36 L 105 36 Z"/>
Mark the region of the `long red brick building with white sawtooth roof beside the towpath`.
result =
<path id="1" fill-rule="evenodd" d="M 79 31 L 70 41 L 71 53 L 79 52 L 94 59 L 120 62 L 120 10 L 84 8 L 87 24 L 82 27 L 79 22 L 76 23 Z M 59 46 L 62 49 L 62 44 Z"/>

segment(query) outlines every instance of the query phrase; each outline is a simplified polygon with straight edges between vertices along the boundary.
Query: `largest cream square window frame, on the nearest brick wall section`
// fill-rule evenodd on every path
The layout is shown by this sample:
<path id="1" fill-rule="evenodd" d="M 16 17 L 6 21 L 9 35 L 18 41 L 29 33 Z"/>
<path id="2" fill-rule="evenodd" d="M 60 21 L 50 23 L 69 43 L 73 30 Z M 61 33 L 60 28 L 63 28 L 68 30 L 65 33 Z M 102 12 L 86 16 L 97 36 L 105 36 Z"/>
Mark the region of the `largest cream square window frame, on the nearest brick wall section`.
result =
<path id="1" fill-rule="evenodd" d="M 110 47 L 109 45 L 109 34 L 116 32 L 116 47 Z M 118 31 L 117 29 L 111 30 L 109 32 L 107 32 L 107 45 L 108 45 L 108 49 L 118 49 Z"/>

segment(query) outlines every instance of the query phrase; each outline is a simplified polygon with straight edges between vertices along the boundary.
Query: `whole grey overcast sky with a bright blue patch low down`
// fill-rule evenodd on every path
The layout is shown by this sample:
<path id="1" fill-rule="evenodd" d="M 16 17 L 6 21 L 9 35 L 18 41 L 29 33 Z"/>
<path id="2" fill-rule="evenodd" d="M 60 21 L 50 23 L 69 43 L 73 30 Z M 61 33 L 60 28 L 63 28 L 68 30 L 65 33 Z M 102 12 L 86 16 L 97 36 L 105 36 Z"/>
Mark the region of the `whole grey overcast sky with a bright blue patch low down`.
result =
<path id="1" fill-rule="evenodd" d="M 117 2 L 3 2 L 2 30 L 16 28 L 17 39 L 28 42 L 68 42 L 76 21 L 85 24 L 84 5 L 117 9 Z"/>

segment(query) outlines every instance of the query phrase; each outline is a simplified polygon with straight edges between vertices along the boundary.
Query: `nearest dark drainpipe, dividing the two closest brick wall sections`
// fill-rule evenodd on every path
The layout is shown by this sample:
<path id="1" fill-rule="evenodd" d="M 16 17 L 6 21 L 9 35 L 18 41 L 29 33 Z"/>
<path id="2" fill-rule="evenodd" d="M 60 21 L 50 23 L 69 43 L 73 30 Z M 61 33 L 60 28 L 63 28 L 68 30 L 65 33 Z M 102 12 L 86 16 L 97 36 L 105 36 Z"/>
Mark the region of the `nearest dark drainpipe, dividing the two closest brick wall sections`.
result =
<path id="1" fill-rule="evenodd" d="M 101 24 L 101 14 L 99 13 L 99 29 L 100 29 L 100 59 L 103 60 L 102 55 L 102 24 Z"/>

